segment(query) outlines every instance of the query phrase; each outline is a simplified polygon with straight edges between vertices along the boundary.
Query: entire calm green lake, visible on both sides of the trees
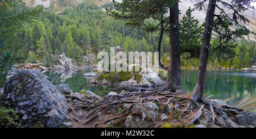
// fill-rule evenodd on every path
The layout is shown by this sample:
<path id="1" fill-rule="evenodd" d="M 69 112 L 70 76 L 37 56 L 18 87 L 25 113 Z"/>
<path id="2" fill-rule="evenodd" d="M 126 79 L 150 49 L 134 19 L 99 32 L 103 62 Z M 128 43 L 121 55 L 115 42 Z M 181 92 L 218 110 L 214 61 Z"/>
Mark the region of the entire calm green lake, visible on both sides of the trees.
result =
<path id="1" fill-rule="evenodd" d="M 90 79 L 83 77 L 88 70 L 48 71 L 53 85 L 67 83 L 73 92 L 81 89 L 90 90 L 94 94 L 104 96 L 114 87 L 90 85 Z M 192 92 L 196 84 L 197 70 L 181 70 L 181 84 L 185 92 Z M 205 98 L 221 99 L 231 106 L 244 109 L 256 109 L 256 72 L 242 71 L 207 71 L 205 82 Z"/>

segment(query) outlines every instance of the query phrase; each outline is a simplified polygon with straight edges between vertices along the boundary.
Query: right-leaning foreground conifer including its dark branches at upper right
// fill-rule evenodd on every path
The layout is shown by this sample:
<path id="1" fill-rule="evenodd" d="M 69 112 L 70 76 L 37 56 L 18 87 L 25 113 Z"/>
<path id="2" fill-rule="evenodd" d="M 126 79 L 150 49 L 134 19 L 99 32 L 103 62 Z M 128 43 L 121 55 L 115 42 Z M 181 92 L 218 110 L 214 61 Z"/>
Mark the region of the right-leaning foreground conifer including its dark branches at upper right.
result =
<path id="1" fill-rule="evenodd" d="M 204 8 L 204 3 L 208 0 L 201 1 L 195 5 L 195 9 L 202 10 Z M 199 62 L 199 70 L 197 74 L 196 85 L 193 89 L 192 99 L 195 101 L 205 100 L 204 96 L 204 87 L 205 87 L 205 75 L 207 71 L 207 60 L 209 55 L 209 45 L 210 39 L 212 36 L 212 31 L 217 32 L 219 36 L 225 36 L 227 40 L 229 40 L 233 35 L 237 35 L 238 33 L 248 33 L 249 30 L 246 29 L 245 23 L 249 22 L 249 19 L 245 17 L 243 12 L 248 8 L 253 10 L 254 7 L 251 6 L 251 2 L 254 0 L 237 0 L 232 2 L 226 2 L 222 0 L 209 0 L 207 7 L 207 16 L 205 18 L 205 27 L 203 33 L 203 40 L 201 44 L 200 50 L 200 62 Z M 230 15 L 222 6 L 225 6 L 232 11 L 233 13 Z M 215 9 L 220 10 L 220 14 L 215 13 Z M 222 16 L 223 15 L 223 16 Z M 214 19 L 218 19 L 217 22 Z M 224 28 L 225 31 L 220 31 L 218 27 L 225 26 L 225 20 L 230 20 L 233 22 L 237 29 L 235 31 L 229 30 L 228 26 Z M 242 24 L 243 23 L 243 24 Z M 220 38 L 221 38 L 220 37 Z M 222 41 L 220 41 L 222 43 Z"/>

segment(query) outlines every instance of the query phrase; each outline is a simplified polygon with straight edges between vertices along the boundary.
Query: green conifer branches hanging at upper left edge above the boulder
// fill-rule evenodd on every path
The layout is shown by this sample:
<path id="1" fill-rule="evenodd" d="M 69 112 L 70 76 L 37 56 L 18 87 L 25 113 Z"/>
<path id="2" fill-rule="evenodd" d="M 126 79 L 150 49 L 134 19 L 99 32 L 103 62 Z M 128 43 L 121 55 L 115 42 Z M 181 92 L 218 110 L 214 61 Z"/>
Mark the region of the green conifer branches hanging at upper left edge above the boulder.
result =
<path id="1" fill-rule="evenodd" d="M 18 31 L 24 22 L 33 22 L 38 18 L 38 14 L 43 10 L 43 7 L 28 8 L 20 0 L 6 0 L 0 2 L 0 86 L 5 83 L 7 73 L 15 59 L 26 60 L 20 40 L 15 32 Z M 27 31 L 26 36 L 28 47 L 31 45 L 31 31 Z M 24 40 L 24 39 L 22 39 Z M 25 43 L 24 43 L 25 44 Z M 15 47 L 14 47 L 15 46 Z M 25 48 L 26 50 L 26 48 Z M 15 57 L 14 57 L 15 56 Z"/>

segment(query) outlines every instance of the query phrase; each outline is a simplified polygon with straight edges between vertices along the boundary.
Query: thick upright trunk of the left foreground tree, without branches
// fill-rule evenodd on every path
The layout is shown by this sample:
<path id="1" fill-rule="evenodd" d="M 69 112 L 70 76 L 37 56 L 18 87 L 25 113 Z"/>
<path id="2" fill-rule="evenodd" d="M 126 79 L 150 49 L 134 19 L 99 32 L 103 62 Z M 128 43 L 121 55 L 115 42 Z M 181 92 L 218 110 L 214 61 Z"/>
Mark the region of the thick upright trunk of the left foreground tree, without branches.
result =
<path id="1" fill-rule="evenodd" d="M 179 41 L 179 4 L 170 8 L 170 64 L 168 68 L 167 90 L 184 92 L 181 88 L 180 41 Z"/>

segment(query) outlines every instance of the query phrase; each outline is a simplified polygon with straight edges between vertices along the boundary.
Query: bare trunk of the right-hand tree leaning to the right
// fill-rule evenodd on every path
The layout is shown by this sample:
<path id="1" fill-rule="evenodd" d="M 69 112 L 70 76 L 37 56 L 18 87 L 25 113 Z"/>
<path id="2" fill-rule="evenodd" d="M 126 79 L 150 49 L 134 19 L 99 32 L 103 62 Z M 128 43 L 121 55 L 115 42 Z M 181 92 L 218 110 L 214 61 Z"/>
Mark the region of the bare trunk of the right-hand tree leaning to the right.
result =
<path id="1" fill-rule="evenodd" d="M 197 101 L 204 96 L 204 87 L 205 87 L 205 75 L 207 71 L 207 60 L 209 53 L 210 37 L 212 36 L 212 27 L 214 20 L 214 11 L 216 0 L 209 0 L 207 16 L 205 18 L 205 27 L 204 35 L 200 50 L 200 62 L 199 70 L 197 73 L 196 86 L 193 89 L 192 99 Z"/>

